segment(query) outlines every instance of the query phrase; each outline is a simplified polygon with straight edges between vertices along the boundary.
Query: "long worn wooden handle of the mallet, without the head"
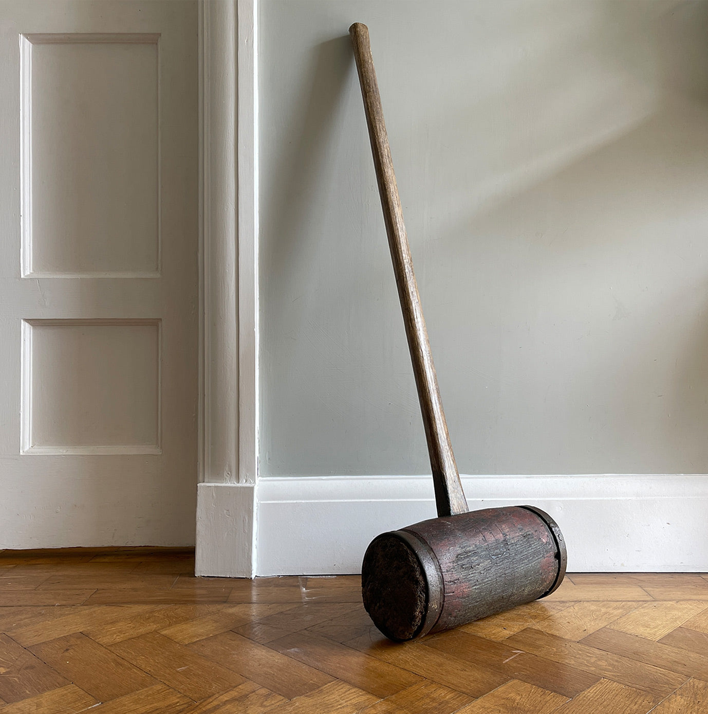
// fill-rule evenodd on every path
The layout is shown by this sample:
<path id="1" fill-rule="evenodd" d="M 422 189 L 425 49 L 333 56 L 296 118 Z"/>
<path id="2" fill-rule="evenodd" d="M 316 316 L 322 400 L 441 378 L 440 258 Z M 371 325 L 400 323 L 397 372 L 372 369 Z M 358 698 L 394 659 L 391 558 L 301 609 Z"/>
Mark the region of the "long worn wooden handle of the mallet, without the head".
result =
<path id="1" fill-rule="evenodd" d="M 379 85 L 376 82 L 376 71 L 374 71 L 374 59 L 371 57 L 369 29 L 361 22 L 355 22 L 349 28 L 349 35 L 352 37 L 354 45 L 354 59 L 356 59 L 356 69 L 359 72 L 361 96 L 364 99 L 371 152 L 374 154 L 374 168 L 376 169 L 376 180 L 379 183 L 381 208 L 384 211 L 391 261 L 394 263 L 396 286 L 399 290 L 408 348 L 411 353 L 418 398 L 423 414 L 438 516 L 466 513 L 468 511 L 467 501 L 462 491 L 460 474 L 457 471 L 450 436 L 448 436 L 428 331 L 413 271 L 411 249 L 406 237 L 401 199 L 396 186 L 389 138 L 386 134 L 386 124 L 384 124 L 384 111 L 381 108 Z"/>

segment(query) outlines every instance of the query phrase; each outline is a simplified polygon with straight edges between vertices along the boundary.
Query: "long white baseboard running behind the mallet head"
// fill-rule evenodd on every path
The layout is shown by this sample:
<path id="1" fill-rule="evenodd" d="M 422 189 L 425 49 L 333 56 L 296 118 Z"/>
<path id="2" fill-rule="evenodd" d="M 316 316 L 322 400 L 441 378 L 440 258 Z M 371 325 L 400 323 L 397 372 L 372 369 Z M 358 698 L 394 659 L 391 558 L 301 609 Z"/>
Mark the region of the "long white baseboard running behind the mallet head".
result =
<path id="1" fill-rule="evenodd" d="M 555 519 L 569 572 L 708 571 L 708 476 L 463 476 L 471 509 Z M 257 575 L 359 573 L 378 533 L 436 516 L 430 476 L 260 478 Z M 198 542 L 198 538 L 197 538 Z"/>

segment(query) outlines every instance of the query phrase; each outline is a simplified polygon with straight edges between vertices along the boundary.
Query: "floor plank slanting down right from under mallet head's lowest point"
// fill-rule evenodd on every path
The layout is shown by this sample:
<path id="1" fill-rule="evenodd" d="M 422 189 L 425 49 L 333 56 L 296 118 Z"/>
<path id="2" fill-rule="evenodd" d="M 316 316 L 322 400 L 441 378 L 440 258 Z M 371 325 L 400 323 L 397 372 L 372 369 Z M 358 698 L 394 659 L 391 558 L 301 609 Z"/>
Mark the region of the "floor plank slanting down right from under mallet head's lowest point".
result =
<path id="1" fill-rule="evenodd" d="M 471 665 L 452 655 L 426 647 L 420 641 L 392 643 L 383 635 L 372 633 L 371 637 L 365 635 L 347 644 L 371 657 L 409 670 L 471 697 L 480 697 L 503 685 L 507 680 L 504 675 L 495 670 Z"/>

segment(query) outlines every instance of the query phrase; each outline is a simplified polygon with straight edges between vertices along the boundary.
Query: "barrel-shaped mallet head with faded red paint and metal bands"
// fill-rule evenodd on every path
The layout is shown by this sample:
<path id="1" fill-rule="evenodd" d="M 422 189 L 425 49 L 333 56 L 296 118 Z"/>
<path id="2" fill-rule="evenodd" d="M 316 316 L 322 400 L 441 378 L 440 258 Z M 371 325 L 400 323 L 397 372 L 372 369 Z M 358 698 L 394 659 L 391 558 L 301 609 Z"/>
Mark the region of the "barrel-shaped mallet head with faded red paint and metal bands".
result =
<path id="1" fill-rule="evenodd" d="M 549 595 L 565 562 L 563 535 L 547 513 L 486 508 L 374 538 L 361 594 L 381 633 L 411 640 Z"/>

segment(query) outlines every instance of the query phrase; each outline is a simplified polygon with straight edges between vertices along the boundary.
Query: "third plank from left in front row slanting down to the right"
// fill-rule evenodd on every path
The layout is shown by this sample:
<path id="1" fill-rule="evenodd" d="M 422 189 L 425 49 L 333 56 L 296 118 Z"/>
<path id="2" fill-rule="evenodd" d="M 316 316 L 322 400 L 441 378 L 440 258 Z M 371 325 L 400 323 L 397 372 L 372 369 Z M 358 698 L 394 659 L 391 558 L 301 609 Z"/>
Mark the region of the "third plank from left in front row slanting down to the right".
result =
<path id="1" fill-rule="evenodd" d="M 244 679 L 220 663 L 158 633 L 111 645 L 111 651 L 195 701 L 242 684 Z"/>

